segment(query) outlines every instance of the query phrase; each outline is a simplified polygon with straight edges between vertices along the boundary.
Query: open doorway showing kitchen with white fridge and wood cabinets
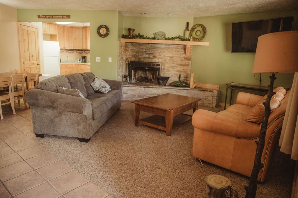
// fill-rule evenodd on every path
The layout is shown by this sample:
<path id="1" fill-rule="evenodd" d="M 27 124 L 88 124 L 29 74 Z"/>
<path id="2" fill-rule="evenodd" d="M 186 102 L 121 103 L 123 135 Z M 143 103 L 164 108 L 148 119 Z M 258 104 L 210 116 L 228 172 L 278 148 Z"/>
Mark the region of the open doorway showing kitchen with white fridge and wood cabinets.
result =
<path id="1" fill-rule="evenodd" d="M 89 22 L 19 22 L 22 70 L 51 76 L 90 72 Z"/>

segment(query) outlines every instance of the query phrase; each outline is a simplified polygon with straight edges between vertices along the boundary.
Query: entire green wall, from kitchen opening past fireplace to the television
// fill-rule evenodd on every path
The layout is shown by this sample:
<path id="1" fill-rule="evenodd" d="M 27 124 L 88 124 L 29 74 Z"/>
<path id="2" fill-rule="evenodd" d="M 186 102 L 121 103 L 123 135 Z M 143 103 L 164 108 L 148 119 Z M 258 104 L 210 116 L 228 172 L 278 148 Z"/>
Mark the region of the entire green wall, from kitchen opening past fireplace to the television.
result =
<path id="1" fill-rule="evenodd" d="M 118 11 L 98 10 L 38 10 L 17 9 L 19 21 L 53 21 L 38 19 L 38 14 L 70 15 L 70 19 L 56 21 L 90 22 L 91 37 L 91 72 L 103 78 L 117 79 L 117 41 L 121 34 L 128 34 L 128 28 L 134 28 L 134 34 L 153 36 L 156 31 L 164 31 L 167 37 L 183 35 L 186 22 L 190 28 L 202 23 L 207 28 L 203 41 L 210 42 L 209 46 L 193 46 L 192 69 L 195 81 L 218 84 L 221 86 L 220 102 L 224 102 L 226 83 L 237 82 L 258 85 L 252 74 L 254 53 L 231 53 L 232 22 L 259 20 L 294 16 L 293 30 L 298 30 L 298 9 L 288 9 L 271 12 L 257 12 L 235 15 L 210 17 L 128 17 Z M 97 35 L 97 27 L 105 24 L 110 29 L 106 38 Z M 95 57 L 101 57 L 101 62 L 95 62 Z M 112 57 L 112 62 L 108 62 Z M 269 74 L 262 74 L 262 85 L 268 85 Z M 282 85 L 290 88 L 293 73 L 277 74 L 274 86 Z"/>

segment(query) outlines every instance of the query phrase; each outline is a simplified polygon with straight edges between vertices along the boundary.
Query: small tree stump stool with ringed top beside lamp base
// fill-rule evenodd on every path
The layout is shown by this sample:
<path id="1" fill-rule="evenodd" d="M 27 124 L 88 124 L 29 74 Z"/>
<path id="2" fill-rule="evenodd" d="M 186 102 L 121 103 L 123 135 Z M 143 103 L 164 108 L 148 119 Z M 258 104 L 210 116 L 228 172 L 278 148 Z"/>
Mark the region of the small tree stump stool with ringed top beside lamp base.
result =
<path id="1" fill-rule="evenodd" d="M 206 183 L 209 188 L 209 198 L 215 198 L 214 192 L 220 188 L 232 186 L 232 182 L 222 175 L 208 175 Z"/>

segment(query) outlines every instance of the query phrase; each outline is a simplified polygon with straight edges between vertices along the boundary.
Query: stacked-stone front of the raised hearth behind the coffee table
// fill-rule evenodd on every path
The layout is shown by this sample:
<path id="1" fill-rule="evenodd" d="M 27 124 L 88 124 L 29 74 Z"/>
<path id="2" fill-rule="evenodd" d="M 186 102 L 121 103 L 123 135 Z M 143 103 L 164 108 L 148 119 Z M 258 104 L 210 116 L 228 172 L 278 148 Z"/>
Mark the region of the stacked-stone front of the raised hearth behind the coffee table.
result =
<path id="1" fill-rule="evenodd" d="M 218 107 L 219 90 L 204 88 L 170 87 L 170 86 L 147 86 L 147 85 L 123 85 L 122 100 L 133 101 L 161 94 L 178 94 L 200 98 L 199 105 Z"/>

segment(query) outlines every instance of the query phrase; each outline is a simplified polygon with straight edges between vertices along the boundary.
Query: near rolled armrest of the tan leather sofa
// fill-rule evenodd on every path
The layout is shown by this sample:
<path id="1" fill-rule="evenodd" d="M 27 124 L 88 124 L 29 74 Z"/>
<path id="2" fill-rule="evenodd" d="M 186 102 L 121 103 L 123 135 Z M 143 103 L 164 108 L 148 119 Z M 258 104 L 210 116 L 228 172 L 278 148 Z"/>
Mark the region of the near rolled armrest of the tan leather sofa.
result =
<path id="1" fill-rule="evenodd" d="M 229 118 L 203 109 L 196 110 L 192 118 L 197 129 L 238 138 L 255 138 L 260 135 L 260 125 L 244 120 Z"/>

